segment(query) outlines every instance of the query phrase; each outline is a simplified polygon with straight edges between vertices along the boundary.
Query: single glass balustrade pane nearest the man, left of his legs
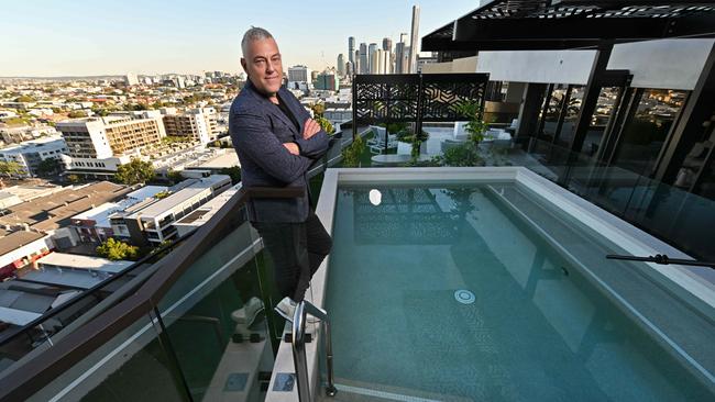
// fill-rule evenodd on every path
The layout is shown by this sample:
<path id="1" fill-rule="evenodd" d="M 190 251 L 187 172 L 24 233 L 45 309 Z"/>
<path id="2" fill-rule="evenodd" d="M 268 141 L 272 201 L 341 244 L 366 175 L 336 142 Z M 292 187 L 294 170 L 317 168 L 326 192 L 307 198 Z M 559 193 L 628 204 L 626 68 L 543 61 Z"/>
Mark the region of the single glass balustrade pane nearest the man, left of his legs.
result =
<path id="1" fill-rule="evenodd" d="M 157 303 L 194 401 L 256 400 L 273 368 L 261 242 L 244 210 L 227 219 L 230 231 Z"/>

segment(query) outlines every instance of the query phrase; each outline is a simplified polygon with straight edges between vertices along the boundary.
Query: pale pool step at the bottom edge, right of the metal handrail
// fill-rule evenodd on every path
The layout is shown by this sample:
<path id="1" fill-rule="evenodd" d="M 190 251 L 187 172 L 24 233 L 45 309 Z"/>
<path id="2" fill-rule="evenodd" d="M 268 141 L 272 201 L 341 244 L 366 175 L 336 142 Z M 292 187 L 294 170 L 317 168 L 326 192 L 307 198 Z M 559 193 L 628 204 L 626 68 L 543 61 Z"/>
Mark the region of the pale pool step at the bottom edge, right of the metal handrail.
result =
<path id="1" fill-rule="evenodd" d="M 338 394 L 327 397 L 324 389 L 321 391 L 319 402 L 438 402 L 471 401 L 466 398 L 443 395 L 413 389 L 404 389 L 378 383 L 365 383 L 345 379 L 336 379 Z"/>

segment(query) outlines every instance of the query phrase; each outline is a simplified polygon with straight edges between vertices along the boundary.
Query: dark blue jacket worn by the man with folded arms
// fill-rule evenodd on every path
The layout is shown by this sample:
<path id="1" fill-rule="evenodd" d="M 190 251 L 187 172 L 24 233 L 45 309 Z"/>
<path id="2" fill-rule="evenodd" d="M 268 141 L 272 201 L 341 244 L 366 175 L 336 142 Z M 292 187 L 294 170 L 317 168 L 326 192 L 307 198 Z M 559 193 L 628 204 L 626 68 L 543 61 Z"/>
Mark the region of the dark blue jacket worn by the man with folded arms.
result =
<path id="1" fill-rule="evenodd" d="M 229 133 L 241 161 L 241 181 L 243 187 L 302 187 L 306 193 L 297 199 L 249 201 L 252 222 L 305 222 L 310 208 L 306 171 L 328 149 L 328 134 L 322 130 L 309 139 L 302 138 L 302 126 L 310 114 L 298 99 L 285 88 L 278 96 L 298 120 L 299 131 L 251 80 L 231 104 Z M 290 154 L 283 143 L 297 143 L 300 155 Z"/>

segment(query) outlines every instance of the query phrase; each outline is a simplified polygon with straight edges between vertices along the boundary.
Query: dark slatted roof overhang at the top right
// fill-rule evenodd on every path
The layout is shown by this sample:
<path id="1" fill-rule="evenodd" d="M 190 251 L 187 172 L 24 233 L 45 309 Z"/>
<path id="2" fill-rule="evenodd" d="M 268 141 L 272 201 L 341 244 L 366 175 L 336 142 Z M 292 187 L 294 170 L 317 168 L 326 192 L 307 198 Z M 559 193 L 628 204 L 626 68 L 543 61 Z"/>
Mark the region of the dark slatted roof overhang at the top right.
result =
<path id="1" fill-rule="evenodd" d="M 595 48 L 715 37 L 715 1 L 495 0 L 422 37 L 422 51 Z"/>

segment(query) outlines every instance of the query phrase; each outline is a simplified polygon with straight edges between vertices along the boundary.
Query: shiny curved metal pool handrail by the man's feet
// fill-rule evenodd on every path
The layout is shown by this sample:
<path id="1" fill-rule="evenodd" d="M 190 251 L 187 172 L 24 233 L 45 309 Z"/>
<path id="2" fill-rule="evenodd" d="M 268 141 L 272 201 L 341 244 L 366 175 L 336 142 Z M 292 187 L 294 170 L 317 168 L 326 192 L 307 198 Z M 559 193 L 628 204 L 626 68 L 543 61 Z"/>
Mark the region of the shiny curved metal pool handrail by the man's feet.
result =
<path id="1" fill-rule="evenodd" d="M 326 360 L 328 368 L 328 386 L 326 394 L 334 397 L 338 393 L 332 369 L 332 337 L 330 334 L 330 319 L 328 312 L 316 306 L 309 301 L 301 301 L 296 305 L 293 314 L 293 362 L 296 368 L 296 382 L 298 384 L 298 400 L 310 402 L 310 379 L 308 376 L 308 359 L 306 358 L 306 316 L 310 314 L 322 322 L 326 332 Z"/>

